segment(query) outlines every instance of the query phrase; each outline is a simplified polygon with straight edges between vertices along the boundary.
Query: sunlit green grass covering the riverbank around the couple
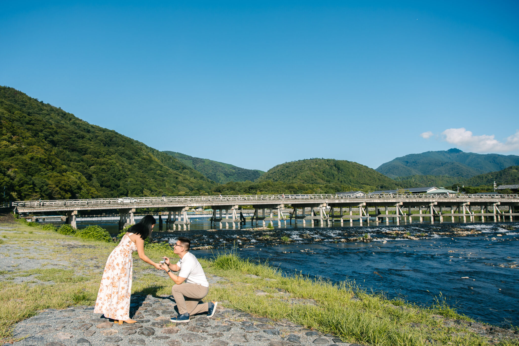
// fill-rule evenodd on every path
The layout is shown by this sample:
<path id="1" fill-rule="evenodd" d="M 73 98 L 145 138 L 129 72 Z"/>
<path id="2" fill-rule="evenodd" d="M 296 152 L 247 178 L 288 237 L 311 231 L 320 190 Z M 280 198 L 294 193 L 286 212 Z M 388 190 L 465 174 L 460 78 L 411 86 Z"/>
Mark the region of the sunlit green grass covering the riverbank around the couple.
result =
<path id="1" fill-rule="evenodd" d="M 12 227 L 12 225 L 10 225 Z M 0 281 L 0 340 L 10 339 L 10 327 L 37 310 L 46 308 L 64 309 L 73 305 L 92 305 L 95 302 L 104 261 L 115 244 L 85 241 L 75 237 L 19 225 L 16 232 L 3 234 L 4 244 L 17 244 L 24 252 L 34 241 L 48 241 L 48 259 L 53 258 L 74 264 L 69 269 L 37 269 L 10 272 L 12 277 L 36 274 L 41 281 L 53 281 L 47 285 L 16 284 L 10 280 Z M 62 242 L 77 242 L 76 246 L 65 248 Z M 93 246 L 92 246 L 93 245 Z M 158 260 L 166 255 L 175 258 L 168 250 L 146 250 L 146 254 Z M 2 253 L 4 256 L 13 254 Z M 21 254 L 26 257 L 26 254 Z M 136 253 L 134 253 L 136 257 Z M 15 257 L 16 258 L 16 257 Z M 29 257 L 30 258 L 30 257 Z M 98 268 L 87 264 L 95 261 Z M 305 276 L 282 275 L 277 269 L 265 264 L 258 265 L 243 260 L 236 255 L 218 255 L 213 260 L 200 260 L 206 273 L 216 274 L 225 279 L 220 287 L 212 287 L 208 299 L 225 301 L 224 306 L 249 312 L 255 316 L 266 316 L 272 320 L 289 319 L 292 322 L 315 328 L 323 333 L 332 333 L 348 342 L 369 345 L 424 345 L 426 340 L 434 344 L 486 345 L 486 340 L 452 324 L 443 325 L 445 319 L 470 320 L 460 316 L 444 304 L 431 308 L 420 308 L 412 303 L 387 300 L 383 296 L 367 294 L 351 282 L 334 285 L 327 281 L 311 280 Z M 167 295 L 171 292 L 171 280 L 149 271 L 149 265 L 137 257 L 134 261 L 133 294 Z M 5 274 L 5 273 L 3 273 Z M 245 276 L 254 274 L 260 278 Z M 264 278 L 275 279 L 265 281 Z M 59 289 L 56 289 L 59 287 Z M 279 290 L 282 290 L 280 294 Z M 267 295 L 258 296 L 256 290 Z M 352 300 L 356 296 L 359 300 Z M 312 299 L 316 305 L 291 305 L 286 298 Z M 402 308 L 397 308 L 400 306 Z M 412 323 L 419 327 L 412 327 Z M 517 343 L 501 342 L 501 345 Z"/>

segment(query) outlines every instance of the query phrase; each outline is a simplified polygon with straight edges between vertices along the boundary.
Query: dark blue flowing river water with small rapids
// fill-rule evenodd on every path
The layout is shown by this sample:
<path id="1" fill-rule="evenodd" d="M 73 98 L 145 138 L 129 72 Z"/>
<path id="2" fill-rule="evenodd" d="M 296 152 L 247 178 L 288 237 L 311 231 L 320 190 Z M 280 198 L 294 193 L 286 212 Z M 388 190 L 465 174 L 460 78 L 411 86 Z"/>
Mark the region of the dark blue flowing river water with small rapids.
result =
<path id="1" fill-rule="evenodd" d="M 268 260 L 287 274 L 351 280 L 422 305 L 441 292 L 450 306 L 475 319 L 519 322 L 519 223 L 209 230 L 208 220 L 192 222 L 189 231 L 154 232 L 154 239 L 185 236 L 192 247 L 214 248 L 193 250 L 199 257 L 235 246 L 241 256 Z M 116 225 L 100 225 L 117 232 Z M 283 236 L 290 242 L 281 242 Z"/>

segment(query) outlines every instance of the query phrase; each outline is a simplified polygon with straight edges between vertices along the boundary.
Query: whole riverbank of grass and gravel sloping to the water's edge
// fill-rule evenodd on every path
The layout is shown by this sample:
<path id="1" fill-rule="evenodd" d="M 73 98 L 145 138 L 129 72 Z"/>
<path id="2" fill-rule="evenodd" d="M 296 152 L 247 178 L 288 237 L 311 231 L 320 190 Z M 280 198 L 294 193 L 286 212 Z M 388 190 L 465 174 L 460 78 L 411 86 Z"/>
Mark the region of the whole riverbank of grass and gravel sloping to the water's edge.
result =
<path id="1" fill-rule="evenodd" d="M 22 328 L 20 322 L 34 316 L 38 311 L 74 306 L 82 306 L 83 310 L 93 304 L 104 262 L 115 244 L 85 241 L 19 224 L 5 225 L 0 227 L 0 230 L 0 289 L 3 292 L 0 297 L 0 338 L 15 341 L 16 338 L 22 337 L 16 333 L 27 328 Z M 147 250 L 146 253 L 158 261 L 166 251 L 168 250 Z M 196 251 L 194 253 L 196 255 Z M 171 253 L 169 255 L 174 256 Z M 321 333 L 318 336 L 325 340 L 322 341 L 323 344 L 339 341 L 369 345 L 519 344 L 517 334 L 513 334 L 512 331 L 492 329 L 493 327 L 488 325 L 476 323 L 466 316 L 458 315 L 441 302 L 439 305 L 423 308 L 401 300 L 388 300 L 380 295 L 367 294 L 351 282 L 334 285 L 297 274 L 282 275 L 275 268 L 242 260 L 236 254 L 201 259 L 201 264 L 206 273 L 213 278 L 208 299 L 223 301 L 223 308 L 229 311 L 234 309 L 232 311 L 269 319 L 264 322 L 253 321 L 251 317 L 235 316 L 236 313 L 229 312 L 229 316 L 221 316 L 218 321 L 228 320 L 229 323 L 241 326 L 249 325 L 242 323 L 247 321 L 251 325 L 262 322 L 261 324 L 267 324 L 272 330 L 276 329 L 280 333 L 278 336 L 272 331 L 270 333 L 274 333 L 274 336 L 263 341 L 256 338 L 254 341 L 250 340 L 254 344 L 292 344 L 296 338 L 290 337 L 290 334 L 299 338 L 302 344 L 312 344 L 313 339 L 309 338 L 315 335 L 307 336 L 308 330 L 305 331 L 305 328 Z M 135 297 L 167 296 L 170 294 L 171 284 L 171 280 L 162 271 L 152 269 L 136 258 L 132 287 Z M 146 310 L 137 312 L 139 311 L 145 314 Z M 229 319 L 230 315 L 237 318 Z M 146 323 L 165 321 L 157 320 L 159 317 L 163 316 L 158 314 L 154 319 L 146 318 L 150 320 Z M 277 324 L 284 323 L 286 327 L 286 320 L 300 327 L 290 326 L 294 327 L 294 330 L 289 330 L 290 328 L 283 329 Z M 147 327 L 146 323 L 142 323 L 142 329 Z M 42 326 L 33 325 L 29 329 L 41 333 L 38 328 L 42 329 Z M 59 331 L 54 328 L 54 331 L 39 336 L 43 336 L 44 339 L 48 336 L 48 340 L 51 340 L 59 333 L 69 333 L 73 337 L 61 339 L 60 342 L 76 344 L 79 341 L 77 336 L 66 328 L 69 327 L 64 326 L 63 330 Z M 95 328 L 92 329 L 96 330 Z M 100 329 L 102 328 L 97 329 L 99 334 Z M 286 334 L 288 331 L 290 334 Z M 34 336 L 37 336 L 37 333 L 34 333 Z M 245 333 L 247 331 L 244 331 L 243 335 L 247 335 Z M 121 340 L 126 339 L 122 336 L 122 331 L 114 334 L 118 334 Z M 200 344 L 214 344 L 216 339 L 220 340 L 223 336 L 208 337 L 203 331 L 195 331 L 195 334 L 206 338 L 197 342 Z M 333 335 L 340 340 L 332 340 L 332 337 L 325 337 L 325 334 Z M 89 337 L 86 336 L 83 336 L 83 339 L 94 342 L 94 339 L 89 341 Z M 164 344 L 171 341 L 157 340 L 165 340 Z M 159 342 L 157 340 L 154 342 Z M 239 343 L 241 342 L 245 341 Z"/>

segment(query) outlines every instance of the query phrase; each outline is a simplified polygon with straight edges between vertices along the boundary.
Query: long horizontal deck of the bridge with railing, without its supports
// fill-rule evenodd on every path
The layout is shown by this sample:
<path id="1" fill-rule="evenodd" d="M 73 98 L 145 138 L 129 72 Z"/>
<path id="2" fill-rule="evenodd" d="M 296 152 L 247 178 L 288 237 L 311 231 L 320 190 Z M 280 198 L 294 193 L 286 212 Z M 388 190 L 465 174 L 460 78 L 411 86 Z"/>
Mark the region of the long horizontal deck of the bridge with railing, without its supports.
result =
<path id="1" fill-rule="evenodd" d="M 238 195 L 238 196 L 188 196 L 188 197 L 140 197 L 129 200 L 121 198 L 108 199 L 76 199 L 17 201 L 12 206 L 20 213 L 77 211 L 77 210 L 109 210 L 133 209 L 149 207 L 195 207 L 211 205 L 215 207 L 231 207 L 235 205 L 255 205 L 256 207 L 277 207 L 280 204 L 291 204 L 297 207 L 315 206 L 317 204 L 338 206 L 374 206 L 374 205 L 519 205 L 519 195 L 431 195 L 428 193 L 407 194 L 387 193 L 381 195 Z"/>

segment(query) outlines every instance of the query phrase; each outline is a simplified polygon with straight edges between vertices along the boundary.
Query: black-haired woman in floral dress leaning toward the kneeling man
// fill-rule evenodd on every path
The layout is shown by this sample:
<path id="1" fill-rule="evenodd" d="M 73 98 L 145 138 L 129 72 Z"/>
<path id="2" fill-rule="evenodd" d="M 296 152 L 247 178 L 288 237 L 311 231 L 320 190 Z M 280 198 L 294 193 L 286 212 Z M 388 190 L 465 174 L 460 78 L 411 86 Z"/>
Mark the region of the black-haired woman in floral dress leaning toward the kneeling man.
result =
<path id="1" fill-rule="evenodd" d="M 103 313 L 106 318 L 119 324 L 136 322 L 130 320 L 132 253 L 136 250 L 140 259 L 161 270 L 159 264 L 144 254 L 144 240 L 151 236 L 153 226 L 155 218 L 152 215 L 144 216 L 138 224 L 128 229 L 119 245 L 108 256 L 94 313 Z"/>

